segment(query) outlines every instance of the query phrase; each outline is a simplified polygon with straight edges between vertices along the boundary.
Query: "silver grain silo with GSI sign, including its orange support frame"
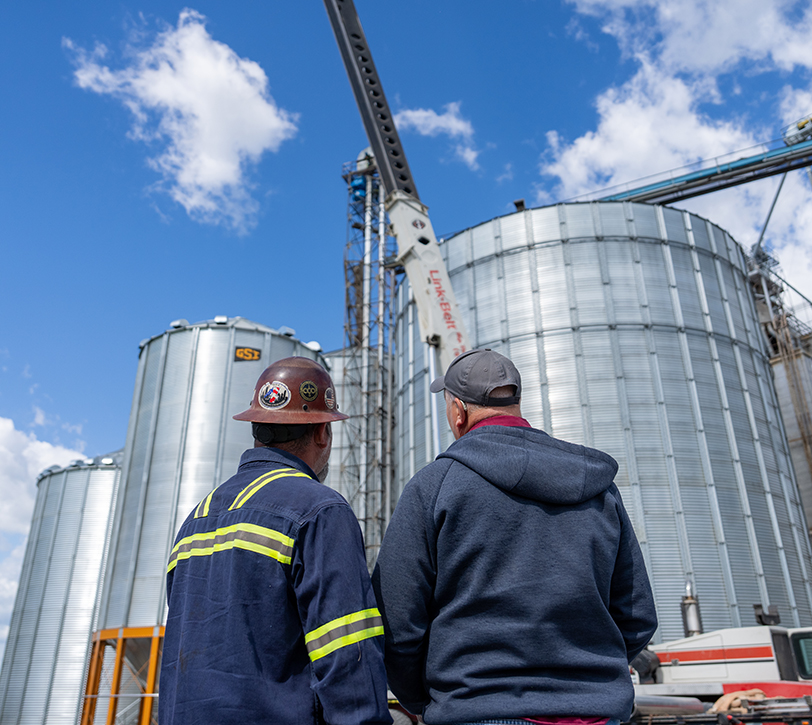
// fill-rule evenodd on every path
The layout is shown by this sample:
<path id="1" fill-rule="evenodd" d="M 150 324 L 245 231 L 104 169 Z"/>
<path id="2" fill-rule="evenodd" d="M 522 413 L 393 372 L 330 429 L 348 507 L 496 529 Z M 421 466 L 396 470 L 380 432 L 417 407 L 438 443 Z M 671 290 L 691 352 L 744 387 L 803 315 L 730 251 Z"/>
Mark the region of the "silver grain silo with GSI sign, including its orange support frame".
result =
<path id="1" fill-rule="evenodd" d="M 253 445 L 251 426 L 231 416 L 246 408 L 262 370 L 291 355 L 320 359 L 317 343 L 293 335 L 215 317 L 179 320 L 141 343 L 83 723 L 150 721 L 173 539 Z"/>

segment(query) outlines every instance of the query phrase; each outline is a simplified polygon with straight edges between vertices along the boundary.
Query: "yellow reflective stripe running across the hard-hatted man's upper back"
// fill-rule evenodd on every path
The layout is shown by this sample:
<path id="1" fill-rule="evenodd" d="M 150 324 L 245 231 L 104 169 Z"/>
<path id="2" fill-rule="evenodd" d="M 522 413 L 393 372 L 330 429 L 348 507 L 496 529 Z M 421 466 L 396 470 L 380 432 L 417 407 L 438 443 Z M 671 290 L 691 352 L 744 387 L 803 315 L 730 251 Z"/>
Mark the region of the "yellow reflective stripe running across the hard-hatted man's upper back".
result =
<path id="1" fill-rule="evenodd" d="M 167 573 L 179 561 L 193 556 L 210 556 L 218 551 L 244 549 L 263 556 L 269 556 L 282 564 L 290 564 L 293 546 L 296 542 L 279 531 L 257 526 L 256 524 L 234 524 L 214 531 L 192 534 L 181 539 L 169 556 Z"/>

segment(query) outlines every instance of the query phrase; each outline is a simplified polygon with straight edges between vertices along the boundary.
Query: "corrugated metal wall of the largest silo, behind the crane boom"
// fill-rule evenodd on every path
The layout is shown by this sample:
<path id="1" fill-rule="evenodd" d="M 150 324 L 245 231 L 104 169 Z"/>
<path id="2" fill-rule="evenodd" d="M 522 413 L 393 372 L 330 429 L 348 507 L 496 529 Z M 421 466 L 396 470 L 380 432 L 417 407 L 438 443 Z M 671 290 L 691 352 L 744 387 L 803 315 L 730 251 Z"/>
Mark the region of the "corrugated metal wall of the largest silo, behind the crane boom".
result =
<path id="1" fill-rule="evenodd" d="M 789 626 L 812 624 L 803 511 L 734 240 L 687 212 L 592 203 L 494 219 L 442 248 L 473 344 L 522 373 L 525 416 L 618 460 L 655 639 L 683 636 L 686 578 L 706 630 L 754 624 L 756 603 L 777 605 Z M 409 296 L 404 284 L 401 487 L 431 458 L 426 346 Z"/>

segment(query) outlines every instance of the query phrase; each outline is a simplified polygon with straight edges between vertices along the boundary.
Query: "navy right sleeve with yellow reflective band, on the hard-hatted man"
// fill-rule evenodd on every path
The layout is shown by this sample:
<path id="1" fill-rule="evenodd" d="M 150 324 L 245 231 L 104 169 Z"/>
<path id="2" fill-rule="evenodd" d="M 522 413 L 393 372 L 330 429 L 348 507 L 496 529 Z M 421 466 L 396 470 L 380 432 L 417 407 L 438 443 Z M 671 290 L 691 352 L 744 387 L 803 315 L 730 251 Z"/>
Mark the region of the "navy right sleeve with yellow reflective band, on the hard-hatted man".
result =
<path id="1" fill-rule="evenodd" d="M 302 523 L 292 564 L 311 686 L 324 721 L 389 725 L 383 624 L 348 504 L 322 507 Z"/>

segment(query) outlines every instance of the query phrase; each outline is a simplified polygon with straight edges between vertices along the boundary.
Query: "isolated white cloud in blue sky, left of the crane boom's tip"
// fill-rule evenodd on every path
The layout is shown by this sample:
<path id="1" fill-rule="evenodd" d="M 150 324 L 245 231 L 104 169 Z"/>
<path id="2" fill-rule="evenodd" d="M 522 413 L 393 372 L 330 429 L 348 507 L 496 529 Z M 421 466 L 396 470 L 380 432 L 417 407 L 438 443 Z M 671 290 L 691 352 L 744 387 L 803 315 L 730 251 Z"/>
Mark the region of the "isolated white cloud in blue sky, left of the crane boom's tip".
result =
<path id="1" fill-rule="evenodd" d="M 102 64 L 103 45 L 92 52 L 67 38 L 63 45 L 79 87 L 119 99 L 134 116 L 132 138 L 164 144 L 148 161 L 162 176 L 158 188 L 196 220 L 239 231 L 253 225 L 248 166 L 292 138 L 298 120 L 276 105 L 259 64 L 214 40 L 190 9 L 176 28 L 133 49 L 120 70 Z"/>

